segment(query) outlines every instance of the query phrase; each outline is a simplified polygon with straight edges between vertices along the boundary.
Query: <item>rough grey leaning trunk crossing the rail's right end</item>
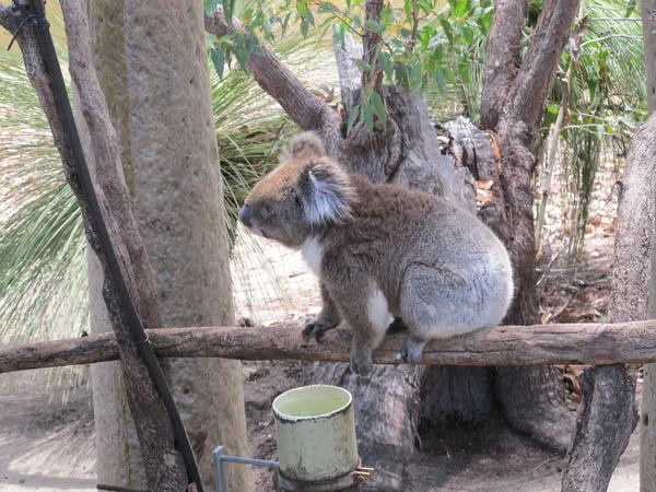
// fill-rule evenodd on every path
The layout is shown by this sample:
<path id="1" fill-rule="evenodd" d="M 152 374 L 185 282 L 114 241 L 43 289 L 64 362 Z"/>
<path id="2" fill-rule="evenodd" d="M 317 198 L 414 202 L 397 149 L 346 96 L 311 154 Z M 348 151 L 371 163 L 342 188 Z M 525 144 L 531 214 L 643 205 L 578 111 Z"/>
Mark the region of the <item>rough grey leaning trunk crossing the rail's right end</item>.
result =
<path id="1" fill-rule="evenodd" d="M 656 249 L 656 115 L 635 133 L 620 181 L 610 319 L 645 319 Z M 564 492 L 605 491 L 637 423 L 635 370 L 597 368 L 567 453 Z M 647 417 L 644 425 L 654 425 Z"/>

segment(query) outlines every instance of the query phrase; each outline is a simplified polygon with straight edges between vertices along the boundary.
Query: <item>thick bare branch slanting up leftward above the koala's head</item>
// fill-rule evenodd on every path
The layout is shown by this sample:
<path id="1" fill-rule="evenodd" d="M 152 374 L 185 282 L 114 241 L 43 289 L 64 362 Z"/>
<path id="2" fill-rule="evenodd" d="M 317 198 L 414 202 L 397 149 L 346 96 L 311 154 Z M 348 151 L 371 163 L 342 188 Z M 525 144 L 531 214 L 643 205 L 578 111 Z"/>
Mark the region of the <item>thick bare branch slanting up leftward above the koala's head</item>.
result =
<path id="1" fill-rule="evenodd" d="M 232 35 L 242 30 L 242 24 L 233 17 L 233 26 L 225 22 L 223 11 L 216 10 L 204 17 L 206 31 L 216 37 Z M 273 97 L 284 112 L 303 130 L 315 130 L 324 134 L 326 144 L 336 140 L 336 129 L 341 125 L 337 112 L 305 87 L 290 69 L 280 62 L 267 48 L 261 55 L 251 54 L 248 70 L 263 91 Z M 330 152 L 330 149 L 327 149 Z"/>

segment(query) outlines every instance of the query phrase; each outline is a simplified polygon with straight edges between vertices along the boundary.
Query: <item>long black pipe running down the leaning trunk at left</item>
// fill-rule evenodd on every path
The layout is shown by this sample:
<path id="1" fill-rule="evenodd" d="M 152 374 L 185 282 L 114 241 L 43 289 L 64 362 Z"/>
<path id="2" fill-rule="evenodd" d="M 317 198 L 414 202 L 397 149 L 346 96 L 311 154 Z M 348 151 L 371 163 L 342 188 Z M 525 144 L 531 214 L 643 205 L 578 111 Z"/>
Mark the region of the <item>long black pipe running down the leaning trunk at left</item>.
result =
<path id="1" fill-rule="evenodd" d="M 160 397 L 162 398 L 164 407 L 168 413 L 168 418 L 171 419 L 173 433 L 176 440 L 176 447 L 183 455 L 185 467 L 187 469 L 187 478 L 190 483 L 196 483 L 199 492 L 203 492 L 198 464 L 196 462 L 196 457 L 194 456 L 189 436 L 187 435 L 187 431 L 183 424 L 183 419 L 180 418 L 177 407 L 175 406 L 173 395 L 171 394 L 171 389 L 168 388 L 168 384 L 166 383 L 162 367 L 157 362 L 155 352 L 153 351 L 153 348 L 148 340 L 148 335 L 143 329 L 143 324 L 141 323 L 141 318 L 139 317 L 139 313 L 137 312 L 134 302 L 130 295 L 126 279 L 120 269 L 120 263 L 118 262 L 116 251 L 114 250 L 114 246 L 112 244 L 112 238 L 109 237 L 109 232 L 107 231 L 107 226 L 103 219 L 98 198 L 93 187 L 91 174 L 89 172 L 89 167 L 86 166 L 86 161 L 82 151 L 82 143 L 80 142 L 80 134 L 78 133 L 78 127 L 75 126 L 75 120 L 73 118 L 71 103 L 68 98 L 63 78 L 61 77 L 61 68 L 59 67 L 59 61 L 55 51 L 55 45 L 52 44 L 52 37 L 50 36 L 50 24 L 45 17 L 43 0 L 27 1 L 30 3 L 32 14 L 35 15 L 36 19 L 35 24 L 38 42 L 44 55 L 44 60 L 46 61 L 46 67 L 52 81 L 59 117 L 61 118 L 66 134 L 73 152 L 73 162 L 80 177 L 82 195 L 86 199 L 93 230 L 98 237 L 98 242 L 107 261 L 107 267 L 109 268 L 112 281 L 114 282 L 114 286 L 118 294 L 118 300 L 126 316 L 126 320 L 128 321 L 128 326 L 130 327 L 132 336 L 134 337 L 133 343 L 137 345 L 139 353 L 143 358 L 143 362 L 148 368 L 148 372 L 153 379 L 155 388 L 160 394 Z"/>

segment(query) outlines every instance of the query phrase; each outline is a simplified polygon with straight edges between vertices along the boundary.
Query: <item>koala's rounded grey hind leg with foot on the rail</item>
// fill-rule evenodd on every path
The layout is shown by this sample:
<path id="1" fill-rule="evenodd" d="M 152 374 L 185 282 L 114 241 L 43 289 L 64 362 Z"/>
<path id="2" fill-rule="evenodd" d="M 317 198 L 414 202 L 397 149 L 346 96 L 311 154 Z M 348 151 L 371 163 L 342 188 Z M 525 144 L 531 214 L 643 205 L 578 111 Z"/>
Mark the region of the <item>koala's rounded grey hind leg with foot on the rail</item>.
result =
<path id="1" fill-rule="evenodd" d="M 399 291 L 399 309 L 410 333 L 397 358 L 418 363 L 425 344 L 469 331 L 476 311 L 473 288 L 445 266 L 411 265 Z"/>

